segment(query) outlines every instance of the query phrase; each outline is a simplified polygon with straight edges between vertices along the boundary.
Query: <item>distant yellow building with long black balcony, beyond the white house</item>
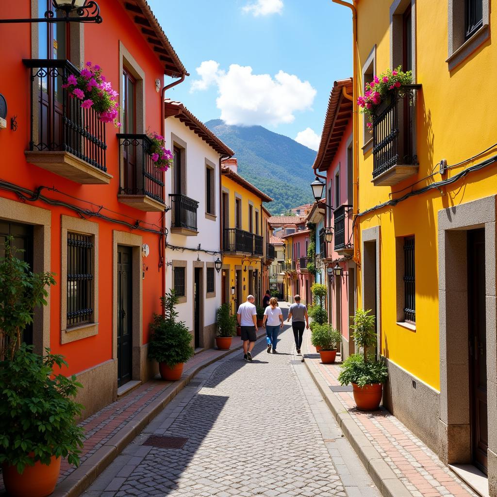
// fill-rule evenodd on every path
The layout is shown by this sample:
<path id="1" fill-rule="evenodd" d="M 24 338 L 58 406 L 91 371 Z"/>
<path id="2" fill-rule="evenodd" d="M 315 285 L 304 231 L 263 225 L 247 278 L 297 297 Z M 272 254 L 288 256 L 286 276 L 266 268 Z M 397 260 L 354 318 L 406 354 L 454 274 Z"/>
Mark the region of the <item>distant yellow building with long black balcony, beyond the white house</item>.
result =
<path id="1" fill-rule="evenodd" d="M 235 313 L 248 295 L 262 305 L 267 215 L 262 202 L 272 199 L 237 172 L 237 160 L 223 161 L 222 203 L 222 298 Z"/>

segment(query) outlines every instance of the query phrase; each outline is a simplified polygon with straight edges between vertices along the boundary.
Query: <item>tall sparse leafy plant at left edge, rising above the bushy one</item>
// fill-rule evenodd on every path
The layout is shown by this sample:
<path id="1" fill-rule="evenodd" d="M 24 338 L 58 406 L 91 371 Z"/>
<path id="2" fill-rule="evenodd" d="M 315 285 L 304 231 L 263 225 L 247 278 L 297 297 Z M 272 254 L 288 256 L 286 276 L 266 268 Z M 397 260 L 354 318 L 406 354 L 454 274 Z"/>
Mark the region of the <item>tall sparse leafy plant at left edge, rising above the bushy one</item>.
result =
<path id="1" fill-rule="evenodd" d="M 13 359 L 34 309 L 47 304 L 46 287 L 55 285 L 54 273 L 33 273 L 27 262 L 15 257 L 21 250 L 11 246 L 12 240 L 7 238 L 0 258 L 0 360 Z"/>

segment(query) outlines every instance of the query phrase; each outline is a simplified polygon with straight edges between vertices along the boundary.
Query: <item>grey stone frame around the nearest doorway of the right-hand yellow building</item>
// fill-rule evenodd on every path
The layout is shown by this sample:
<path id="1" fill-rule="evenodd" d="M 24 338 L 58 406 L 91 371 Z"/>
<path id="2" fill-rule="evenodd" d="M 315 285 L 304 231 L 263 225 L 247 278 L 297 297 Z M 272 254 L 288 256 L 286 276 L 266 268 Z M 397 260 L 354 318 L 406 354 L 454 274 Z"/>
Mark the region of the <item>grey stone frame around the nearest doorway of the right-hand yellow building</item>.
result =
<path id="1" fill-rule="evenodd" d="M 496 199 L 490 196 L 438 211 L 440 423 L 446 433 L 443 459 L 449 464 L 471 462 L 467 231 L 485 228 L 488 472 L 489 487 L 494 489 L 497 432 L 490 427 L 497 425 Z M 464 378 L 468 381 L 461 381 Z"/>

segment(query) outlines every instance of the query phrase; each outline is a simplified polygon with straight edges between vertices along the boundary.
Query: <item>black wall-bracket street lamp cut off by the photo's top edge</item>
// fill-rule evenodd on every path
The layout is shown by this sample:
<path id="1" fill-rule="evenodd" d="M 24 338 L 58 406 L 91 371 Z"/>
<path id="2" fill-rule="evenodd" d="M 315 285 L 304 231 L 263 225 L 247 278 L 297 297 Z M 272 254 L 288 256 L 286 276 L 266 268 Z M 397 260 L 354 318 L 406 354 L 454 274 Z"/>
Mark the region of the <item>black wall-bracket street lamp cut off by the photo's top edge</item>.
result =
<path id="1" fill-rule="evenodd" d="M 54 8 L 65 15 L 58 17 L 47 10 L 44 17 L 27 19 L 0 19 L 0 24 L 19 22 L 95 22 L 100 24 L 100 7 L 94 0 L 52 0 Z M 76 15 L 75 15 L 76 14 Z"/>

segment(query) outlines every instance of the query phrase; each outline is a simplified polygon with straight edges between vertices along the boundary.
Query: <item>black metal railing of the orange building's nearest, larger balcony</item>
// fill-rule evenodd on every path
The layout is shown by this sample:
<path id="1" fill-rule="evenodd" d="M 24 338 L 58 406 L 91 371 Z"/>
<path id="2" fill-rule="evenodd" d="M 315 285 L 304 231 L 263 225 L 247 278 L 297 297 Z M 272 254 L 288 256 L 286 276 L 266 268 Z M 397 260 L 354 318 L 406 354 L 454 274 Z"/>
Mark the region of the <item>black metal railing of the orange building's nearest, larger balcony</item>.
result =
<path id="1" fill-rule="evenodd" d="M 69 152 L 90 166 L 106 171 L 105 124 L 93 108 L 81 108 L 63 84 L 80 75 L 62 59 L 24 59 L 31 69 L 31 133 L 29 150 Z"/>

